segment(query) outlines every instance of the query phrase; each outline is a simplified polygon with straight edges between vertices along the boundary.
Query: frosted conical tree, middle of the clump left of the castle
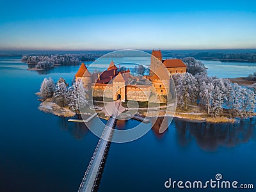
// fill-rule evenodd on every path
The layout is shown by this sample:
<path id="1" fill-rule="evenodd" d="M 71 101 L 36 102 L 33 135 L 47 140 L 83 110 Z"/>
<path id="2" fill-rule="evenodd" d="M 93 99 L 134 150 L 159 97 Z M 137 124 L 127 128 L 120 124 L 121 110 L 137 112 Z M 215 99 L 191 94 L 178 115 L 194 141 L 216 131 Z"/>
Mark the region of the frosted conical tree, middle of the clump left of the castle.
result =
<path id="1" fill-rule="evenodd" d="M 63 107 L 67 105 L 67 96 L 67 83 L 63 78 L 60 78 L 58 83 L 56 83 L 53 99 L 59 106 Z"/>

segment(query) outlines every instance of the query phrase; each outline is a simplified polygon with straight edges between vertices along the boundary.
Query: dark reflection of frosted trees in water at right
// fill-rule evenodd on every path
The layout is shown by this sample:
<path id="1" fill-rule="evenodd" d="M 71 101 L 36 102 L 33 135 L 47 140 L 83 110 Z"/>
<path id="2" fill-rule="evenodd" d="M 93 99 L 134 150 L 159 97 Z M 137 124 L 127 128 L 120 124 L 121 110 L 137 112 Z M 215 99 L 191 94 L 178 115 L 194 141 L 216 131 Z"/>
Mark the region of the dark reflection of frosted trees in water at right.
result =
<path id="1" fill-rule="evenodd" d="M 242 120 L 237 124 L 193 123 L 175 120 L 177 139 L 186 146 L 195 138 L 197 145 L 206 151 L 216 151 L 218 147 L 236 147 L 255 138 L 255 118 Z"/>

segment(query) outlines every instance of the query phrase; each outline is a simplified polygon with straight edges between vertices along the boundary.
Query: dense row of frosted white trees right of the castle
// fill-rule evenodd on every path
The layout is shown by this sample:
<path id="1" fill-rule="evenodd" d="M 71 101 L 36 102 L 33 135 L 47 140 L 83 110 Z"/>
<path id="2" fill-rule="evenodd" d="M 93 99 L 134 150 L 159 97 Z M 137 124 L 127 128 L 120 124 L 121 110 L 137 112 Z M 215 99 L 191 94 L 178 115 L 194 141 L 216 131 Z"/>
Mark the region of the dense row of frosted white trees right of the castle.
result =
<path id="1" fill-rule="evenodd" d="M 204 64 L 198 64 L 194 58 L 185 58 L 184 63 L 188 65 L 188 72 L 172 76 L 180 109 L 186 111 L 189 104 L 201 104 L 209 116 L 220 116 L 223 109 L 229 109 L 230 115 L 241 117 L 254 111 L 256 86 L 250 89 L 229 79 L 208 77 Z"/>

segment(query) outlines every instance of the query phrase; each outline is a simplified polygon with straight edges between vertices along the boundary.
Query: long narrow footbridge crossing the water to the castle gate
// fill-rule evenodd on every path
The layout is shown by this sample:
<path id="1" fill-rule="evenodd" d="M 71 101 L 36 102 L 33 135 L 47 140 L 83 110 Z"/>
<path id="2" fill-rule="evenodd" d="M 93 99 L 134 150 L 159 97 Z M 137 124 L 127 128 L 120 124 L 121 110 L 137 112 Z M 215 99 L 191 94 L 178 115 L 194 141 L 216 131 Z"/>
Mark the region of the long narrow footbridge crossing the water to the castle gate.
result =
<path id="1" fill-rule="evenodd" d="M 110 116 L 100 140 L 95 148 L 92 159 L 88 165 L 86 172 L 84 173 L 83 180 L 78 189 L 79 192 L 91 192 L 97 191 L 99 188 L 99 180 L 106 162 L 106 156 L 108 155 L 109 145 L 113 136 L 113 131 L 116 126 L 116 114 L 120 106 L 120 100 L 116 102 L 116 111 Z"/>

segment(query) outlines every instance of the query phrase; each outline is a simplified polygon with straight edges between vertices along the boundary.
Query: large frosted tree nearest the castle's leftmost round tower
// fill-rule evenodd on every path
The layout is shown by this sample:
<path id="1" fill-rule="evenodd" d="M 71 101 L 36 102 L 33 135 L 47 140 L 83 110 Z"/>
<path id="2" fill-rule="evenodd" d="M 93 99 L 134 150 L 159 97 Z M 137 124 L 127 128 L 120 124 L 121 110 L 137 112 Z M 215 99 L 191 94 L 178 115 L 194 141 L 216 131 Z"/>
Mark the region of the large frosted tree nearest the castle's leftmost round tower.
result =
<path id="1" fill-rule="evenodd" d="M 79 108 L 84 108 L 87 103 L 86 89 L 83 86 L 83 81 L 77 79 L 77 81 L 68 88 L 68 106 L 72 111 L 77 112 Z"/>

